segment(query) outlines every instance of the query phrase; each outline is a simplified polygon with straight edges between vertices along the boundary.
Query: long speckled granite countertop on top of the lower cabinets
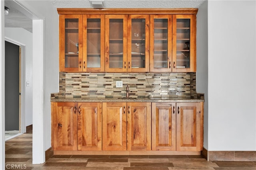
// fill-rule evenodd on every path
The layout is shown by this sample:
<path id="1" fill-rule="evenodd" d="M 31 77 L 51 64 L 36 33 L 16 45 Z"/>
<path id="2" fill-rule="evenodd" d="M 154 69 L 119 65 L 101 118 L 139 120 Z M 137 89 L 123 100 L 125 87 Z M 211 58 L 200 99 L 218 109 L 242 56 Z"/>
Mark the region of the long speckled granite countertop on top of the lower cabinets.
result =
<path id="1" fill-rule="evenodd" d="M 88 99 L 88 98 L 55 98 L 50 102 L 204 102 L 204 99 L 195 98 L 105 98 L 105 99 Z"/>

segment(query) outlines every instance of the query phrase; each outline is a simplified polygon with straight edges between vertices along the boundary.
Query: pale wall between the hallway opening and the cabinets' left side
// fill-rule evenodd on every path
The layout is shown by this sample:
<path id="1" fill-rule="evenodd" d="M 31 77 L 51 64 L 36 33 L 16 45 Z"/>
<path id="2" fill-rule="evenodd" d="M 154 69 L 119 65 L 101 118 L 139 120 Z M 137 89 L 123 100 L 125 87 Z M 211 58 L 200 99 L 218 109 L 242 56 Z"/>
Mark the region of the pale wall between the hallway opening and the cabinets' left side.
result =
<path id="1" fill-rule="evenodd" d="M 26 6 L 32 12 L 44 16 L 45 50 L 44 50 L 44 148 L 51 147 L 51 105 L 50 94 L 58 92 L 59 73 L 59 35 L 58 35 L 58 13 L 56 8 L 45 0 L 26 0 Z M 44 7 L 44 8 L 42 8 Z M 45 8 L 47 7 L 47 8 Z M 36 56 L 33 56 L 33 60 Z M 34 115 L 34 113 L 33 113 Z M 35 126 L 35 125 L 33 125 Z M 34 142 L 34 139 L 33 139 Z"/>

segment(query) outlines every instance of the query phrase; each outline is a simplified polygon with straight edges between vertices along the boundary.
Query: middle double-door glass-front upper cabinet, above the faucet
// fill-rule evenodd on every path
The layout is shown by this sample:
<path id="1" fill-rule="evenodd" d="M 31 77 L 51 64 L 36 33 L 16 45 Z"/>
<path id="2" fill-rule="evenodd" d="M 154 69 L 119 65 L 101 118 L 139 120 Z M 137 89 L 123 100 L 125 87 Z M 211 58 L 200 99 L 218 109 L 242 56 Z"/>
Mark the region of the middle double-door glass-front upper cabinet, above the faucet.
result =
<path id="1" fill-rule="evenodd" d="M 106 15 L 105 71 L 149 71 L 149 15 Z"/>

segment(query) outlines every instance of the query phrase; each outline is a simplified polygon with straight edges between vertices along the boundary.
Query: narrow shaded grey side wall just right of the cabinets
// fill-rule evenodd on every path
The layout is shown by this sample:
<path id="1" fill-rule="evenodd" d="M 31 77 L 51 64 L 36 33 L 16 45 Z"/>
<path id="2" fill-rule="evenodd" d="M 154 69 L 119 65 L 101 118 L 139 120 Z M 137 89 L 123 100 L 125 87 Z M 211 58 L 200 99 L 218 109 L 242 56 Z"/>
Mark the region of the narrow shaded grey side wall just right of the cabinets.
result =
<path id="1" fill-rule="evenodd" d="M 196 16 L 196 92 L 204 93 L 204 148 L 208 149 L 208 1 Z"/>

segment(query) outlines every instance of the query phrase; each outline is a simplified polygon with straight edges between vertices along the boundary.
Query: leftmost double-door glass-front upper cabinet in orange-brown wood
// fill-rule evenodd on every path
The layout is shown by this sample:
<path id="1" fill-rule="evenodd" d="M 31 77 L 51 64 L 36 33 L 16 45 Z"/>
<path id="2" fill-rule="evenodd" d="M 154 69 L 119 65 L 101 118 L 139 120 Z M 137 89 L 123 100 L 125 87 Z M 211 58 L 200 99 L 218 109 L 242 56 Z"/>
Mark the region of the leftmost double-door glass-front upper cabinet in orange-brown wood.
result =
<path id="1" fill-rule="evenodd" d="M 104 72 L 104 15 L 60 15 L 60 71 Z"/>

